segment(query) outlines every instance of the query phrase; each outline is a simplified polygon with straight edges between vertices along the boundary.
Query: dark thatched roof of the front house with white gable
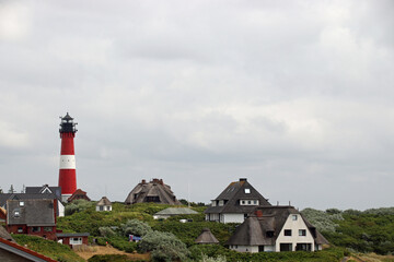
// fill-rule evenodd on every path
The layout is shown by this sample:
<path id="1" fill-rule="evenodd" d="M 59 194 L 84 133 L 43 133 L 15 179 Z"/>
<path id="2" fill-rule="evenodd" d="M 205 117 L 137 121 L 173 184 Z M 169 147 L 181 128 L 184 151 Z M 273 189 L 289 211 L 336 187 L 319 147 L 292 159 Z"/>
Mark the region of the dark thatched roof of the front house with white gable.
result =
<path id="1" fill-rule="evenodd" d="M 255 213 L 251 214 L 230 237 L 227 245 L 241 246 L 264 246 L 275 245 L 286 221 L 290 214 L 300 214 L 293 206 L 260 206 L 256 207 Z M 328 241 L 313 227 L 302 215 L 306 227 L 313 235 L 318 245 Z M 270 231 L 273 237 L 268 237 Z"/>

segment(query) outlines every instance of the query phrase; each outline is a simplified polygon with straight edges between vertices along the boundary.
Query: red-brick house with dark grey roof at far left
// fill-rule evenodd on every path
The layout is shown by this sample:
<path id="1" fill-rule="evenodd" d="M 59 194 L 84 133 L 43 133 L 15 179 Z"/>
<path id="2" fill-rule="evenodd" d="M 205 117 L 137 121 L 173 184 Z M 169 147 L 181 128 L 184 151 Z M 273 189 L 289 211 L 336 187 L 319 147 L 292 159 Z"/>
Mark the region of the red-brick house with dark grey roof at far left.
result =
<path id="1" fill-rule="evenodd" d="M 56 205 L 54 200 L 8 200 L 8 231 L 56 239 Z"/>

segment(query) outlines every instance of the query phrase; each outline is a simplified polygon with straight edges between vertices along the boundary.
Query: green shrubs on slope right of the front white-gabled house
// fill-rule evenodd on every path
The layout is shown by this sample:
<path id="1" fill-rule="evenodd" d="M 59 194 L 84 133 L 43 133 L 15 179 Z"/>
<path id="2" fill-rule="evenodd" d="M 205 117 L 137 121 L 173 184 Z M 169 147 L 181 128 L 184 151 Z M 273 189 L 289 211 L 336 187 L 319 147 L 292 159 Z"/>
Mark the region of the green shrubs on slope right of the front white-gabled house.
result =
<path id="1" fill-rule="evenodd" d="M 302 214 L 335 246 L 357 252 L 394 253 L 394 207 L 315 211 Z"/>

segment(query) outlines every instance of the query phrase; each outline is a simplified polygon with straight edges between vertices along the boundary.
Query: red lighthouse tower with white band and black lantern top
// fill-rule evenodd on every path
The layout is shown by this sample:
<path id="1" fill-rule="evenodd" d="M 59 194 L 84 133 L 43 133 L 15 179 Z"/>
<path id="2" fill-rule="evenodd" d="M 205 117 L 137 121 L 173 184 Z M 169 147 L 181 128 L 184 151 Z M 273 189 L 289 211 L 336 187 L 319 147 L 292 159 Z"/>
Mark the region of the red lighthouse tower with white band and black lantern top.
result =
<path id="1" fill-rule="evenodd" d="M 61 201 L 63 202 L 77 190 L 73 139 L 78 130 L 76 129 L 77 123 L 72 120 L 73 118 L 67 112 L 67 115 L 61 118 L 59 129 L 61 139 L 59 187 L 61 187 Z"/>

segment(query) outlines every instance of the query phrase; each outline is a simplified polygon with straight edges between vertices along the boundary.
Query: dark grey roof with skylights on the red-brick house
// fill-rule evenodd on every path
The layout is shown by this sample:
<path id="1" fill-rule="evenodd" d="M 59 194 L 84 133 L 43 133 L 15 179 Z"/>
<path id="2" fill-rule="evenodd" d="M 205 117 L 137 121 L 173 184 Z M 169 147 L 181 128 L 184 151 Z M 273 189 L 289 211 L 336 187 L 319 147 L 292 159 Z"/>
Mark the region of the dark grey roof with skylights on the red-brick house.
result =
<path id="1" fill-rule="evenodd" d="M 7 224 L 27 226 L 55 226 L 54 200 L 19 200 L 7 201 Z M 15 216 L 15 211 L 19 215 Z"/>

